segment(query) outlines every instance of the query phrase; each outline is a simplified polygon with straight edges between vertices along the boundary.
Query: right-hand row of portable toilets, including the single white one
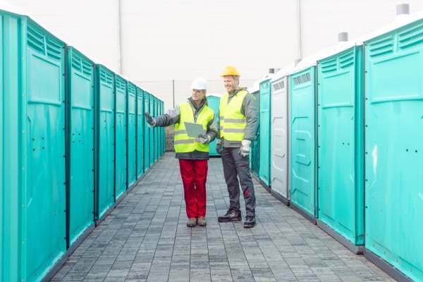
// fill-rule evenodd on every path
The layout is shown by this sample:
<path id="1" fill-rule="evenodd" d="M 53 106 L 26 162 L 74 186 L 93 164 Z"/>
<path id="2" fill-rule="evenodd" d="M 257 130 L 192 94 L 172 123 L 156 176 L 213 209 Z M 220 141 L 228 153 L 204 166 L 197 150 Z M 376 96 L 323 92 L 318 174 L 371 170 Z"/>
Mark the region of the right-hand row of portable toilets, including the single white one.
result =
<path id="1" fill-rule="evenodd" d="M 269 74 L 250 166 L 398 281 L 423 281 L 423 17 Z"/>

